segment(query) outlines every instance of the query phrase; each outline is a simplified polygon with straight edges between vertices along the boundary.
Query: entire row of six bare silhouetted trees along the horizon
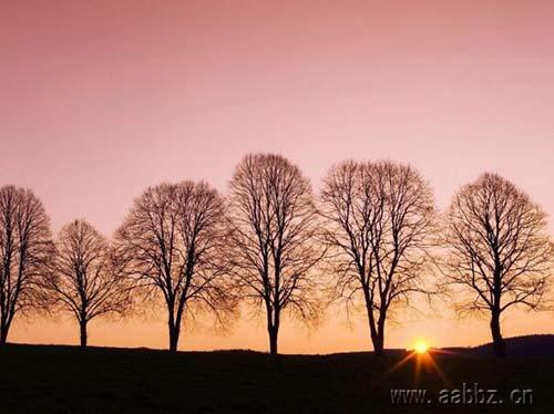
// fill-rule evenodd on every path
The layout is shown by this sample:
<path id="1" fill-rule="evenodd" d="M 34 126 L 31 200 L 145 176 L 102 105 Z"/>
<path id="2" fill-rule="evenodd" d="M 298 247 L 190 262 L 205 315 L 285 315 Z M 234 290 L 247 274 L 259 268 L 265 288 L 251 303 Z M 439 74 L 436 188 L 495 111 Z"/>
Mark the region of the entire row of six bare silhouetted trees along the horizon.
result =
<path id="1" fill-rule="evenodd" d="M 0 343 L 18 313 L 71 312 L 88 323 L 144 304 L 167 312 L 170 350 L 185 319 L 225 328 L 240 303 L 267 319 L 271 353 L 285 314 L 316 323 L 330 302 L 362 308 L 377 354 L 390 313 L 414 293 L 453 293 L 456 310 L 486 312 L 504 355 L 500 318 L 544 304 L 553 257 L 546 215 L 512 183 L 484 174 L 437 211 L 408 165 L 343 162 L 319 197 L 300 169 L 247 155 L 227 197 L 204 182 L 161 184 L 134 200 L 107 240 L 74 220 L 52 240 L 41 201 L 0 189 Z"/>

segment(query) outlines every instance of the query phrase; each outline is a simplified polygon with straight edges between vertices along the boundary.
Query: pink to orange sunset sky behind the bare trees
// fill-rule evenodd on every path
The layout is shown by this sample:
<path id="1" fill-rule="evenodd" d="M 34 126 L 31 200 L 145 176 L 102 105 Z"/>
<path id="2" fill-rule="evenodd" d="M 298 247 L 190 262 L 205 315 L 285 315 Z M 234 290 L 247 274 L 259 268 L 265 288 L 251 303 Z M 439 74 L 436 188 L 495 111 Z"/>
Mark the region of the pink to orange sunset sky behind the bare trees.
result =
<path id="1" fill-rule="evenodd" d="M 485 170 L 524 188 L 554 234 L 551 1 L 19 0 L 0 12 L 0 185 L 30 187 L 52 228 L 110 236 L 151 185 L 226 192 L 246 153 L 275 152 L 318 192 L 346 158 L 409 163 L 444 208 Z M 506 337 L 553 332 L 510 311 Z M 489 342 L 486 319 L 444 303 L 403 312 L 387 346 Z M 14 342 L 76 343 L 69 319 L 17 320 Z M 95 321 L 90 344 L 164 348 L 165 315 Z M 267 349 L 263 318 L 182 350 Z M 285 320 L 280 350 L 369 350 L 362 317 L 318 330 Z"/>

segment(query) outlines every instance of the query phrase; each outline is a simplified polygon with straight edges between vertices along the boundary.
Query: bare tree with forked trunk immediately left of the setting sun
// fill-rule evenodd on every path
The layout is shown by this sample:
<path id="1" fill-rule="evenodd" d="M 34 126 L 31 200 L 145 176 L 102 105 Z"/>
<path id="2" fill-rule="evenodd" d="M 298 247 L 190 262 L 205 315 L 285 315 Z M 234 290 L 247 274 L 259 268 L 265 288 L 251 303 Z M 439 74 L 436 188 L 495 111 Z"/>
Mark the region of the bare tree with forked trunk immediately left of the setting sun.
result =
<path id="1" fill-rule="evenodd" d="M 382 355 L 391 307 L 424 290 L 432 192 L 410 166 L 345 162 L 324 179 L 321 204 L 335 293 L 347 309 L 363 299 L 373 349 Z"/>

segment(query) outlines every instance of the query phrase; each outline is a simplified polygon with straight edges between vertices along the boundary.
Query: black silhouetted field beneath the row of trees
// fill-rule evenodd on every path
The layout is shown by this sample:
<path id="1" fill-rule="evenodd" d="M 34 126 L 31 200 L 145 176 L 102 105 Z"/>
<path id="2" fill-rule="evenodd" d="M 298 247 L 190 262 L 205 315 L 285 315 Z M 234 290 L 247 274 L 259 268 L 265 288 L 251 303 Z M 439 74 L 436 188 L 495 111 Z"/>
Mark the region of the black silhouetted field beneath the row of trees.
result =
<path id="1" fill-rule="evenodd" d="M 554 358 L 433 353 L 391 368 L 408 353 L 280 355 L 146 349 L 0 349 L 0 413 L 414 413 L 547 412 L 554 406 Z M 442 376 L 442 379 L 441 379 Z M 499 390 L 495 406 L 438 403 L 440 390 L 463 383 Z M 392 389 L 427 389 L 424 404 L 391 401 Z M 533 390 L 532 404 L 511 390 Z"/>

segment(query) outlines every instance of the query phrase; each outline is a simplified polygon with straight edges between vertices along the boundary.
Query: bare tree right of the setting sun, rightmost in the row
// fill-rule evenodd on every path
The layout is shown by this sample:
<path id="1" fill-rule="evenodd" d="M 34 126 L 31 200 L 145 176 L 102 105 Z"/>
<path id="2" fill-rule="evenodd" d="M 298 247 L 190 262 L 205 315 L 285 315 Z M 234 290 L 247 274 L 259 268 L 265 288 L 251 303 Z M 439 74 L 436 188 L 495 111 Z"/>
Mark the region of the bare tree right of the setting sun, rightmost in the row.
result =
<path id="1" fill-rule="evenodd" d="M 462 288 L 456 309 L 490 313 L 494 351 L 504 356 L 501 314 L 513 306 L 537 308 L 546 290 L 553 253 L 546 215 L 488 173 L 454 196 L 447 221 L 443 265 L 448 282 Z"/>

